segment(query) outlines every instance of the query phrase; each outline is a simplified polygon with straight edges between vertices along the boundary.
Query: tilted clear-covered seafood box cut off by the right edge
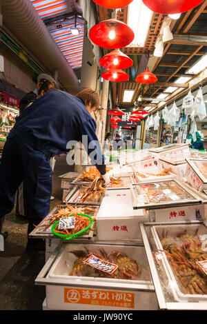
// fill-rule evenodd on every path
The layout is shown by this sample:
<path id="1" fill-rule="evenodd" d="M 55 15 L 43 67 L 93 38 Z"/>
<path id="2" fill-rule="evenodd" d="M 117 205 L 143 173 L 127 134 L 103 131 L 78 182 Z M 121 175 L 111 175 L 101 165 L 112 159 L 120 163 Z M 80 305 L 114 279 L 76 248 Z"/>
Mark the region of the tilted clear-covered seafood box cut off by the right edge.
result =
<path id="1" fill-rule="evenodd" d="M 193 188 L 203 191 L 207 189 L 207 160 L 186 159 L 186 180 Z"/>

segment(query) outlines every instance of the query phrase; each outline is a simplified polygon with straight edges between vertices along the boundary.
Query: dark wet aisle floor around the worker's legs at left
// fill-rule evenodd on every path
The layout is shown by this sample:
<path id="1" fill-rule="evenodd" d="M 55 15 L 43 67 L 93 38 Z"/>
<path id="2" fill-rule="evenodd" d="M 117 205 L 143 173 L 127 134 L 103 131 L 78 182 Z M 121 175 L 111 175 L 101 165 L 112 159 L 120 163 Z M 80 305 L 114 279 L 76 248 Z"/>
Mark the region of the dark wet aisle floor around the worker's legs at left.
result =
<path id="1" fill-rule="evenodd" d="M 66 164 L 66 155 L 58 156 L 53 176 L 52 209 L 61 203 L 61 181 L 58 176 L 72 171 Z M 45 264 L 44 252 L 26 252 L 27 220 L 15 215 L 6 217 L 3 231 L 9 232 L 5 251 L 0 252 L 0 310 L 41 310 L 45 287 L 34 285 L 34 279 Z"/>

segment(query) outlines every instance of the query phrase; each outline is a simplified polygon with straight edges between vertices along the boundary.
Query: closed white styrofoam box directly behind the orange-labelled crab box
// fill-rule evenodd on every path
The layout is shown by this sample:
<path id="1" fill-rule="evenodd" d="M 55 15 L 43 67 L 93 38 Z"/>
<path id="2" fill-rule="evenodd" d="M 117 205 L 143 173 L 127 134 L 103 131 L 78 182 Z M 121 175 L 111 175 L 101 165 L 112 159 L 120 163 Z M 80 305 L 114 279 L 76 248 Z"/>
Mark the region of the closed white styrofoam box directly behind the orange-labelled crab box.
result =
<path id="1" fill-rule="evenodd" d="M 111 190 L 103 197 L 97 214 L 99 240 L 142 240 L 139 223 L 148 221 L 146 210 L 133 210 L 130 190 Z"/>

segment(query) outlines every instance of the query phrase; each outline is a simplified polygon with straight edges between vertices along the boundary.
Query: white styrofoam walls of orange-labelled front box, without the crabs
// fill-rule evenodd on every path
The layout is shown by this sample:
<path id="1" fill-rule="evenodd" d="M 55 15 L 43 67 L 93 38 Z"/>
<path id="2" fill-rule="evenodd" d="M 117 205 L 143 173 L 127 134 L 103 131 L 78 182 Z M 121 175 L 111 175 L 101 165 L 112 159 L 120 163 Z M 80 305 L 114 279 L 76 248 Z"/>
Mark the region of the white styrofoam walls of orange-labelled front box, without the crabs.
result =
<path id="1" fill-rule="evenodd" d="M 69 276 L 72 265 L 77 260 L 77 256 L 71 251 L 84 250 L 84 247 L 93 253 L 100 253 L 100 247 L 107 254 L 113 251 L 123 252 L 141 265 L 140 278 L 127 280 Z M 99 243 L 64 244 L 47 275 L 47 279 L 53 281 L 52 285 L 46 285 L 47 307 L 51 310 L 157 310 L 158 308 L 144 247 L 100 245 Z M 57 281 L 57 285 L 54 284 L 54 281 Z M 95 294 L 99 297 L 91 297 Z M 124 301 L 124 295 L 133 301 L 130 306 L 124 306 L 124 302 L 127 302 Z M 91 301 L 99 303 L 96 305 Z M 119 307 L 112 305 L 116 301 Z M 109 302 L 112 302 L 111 305 Z"/>

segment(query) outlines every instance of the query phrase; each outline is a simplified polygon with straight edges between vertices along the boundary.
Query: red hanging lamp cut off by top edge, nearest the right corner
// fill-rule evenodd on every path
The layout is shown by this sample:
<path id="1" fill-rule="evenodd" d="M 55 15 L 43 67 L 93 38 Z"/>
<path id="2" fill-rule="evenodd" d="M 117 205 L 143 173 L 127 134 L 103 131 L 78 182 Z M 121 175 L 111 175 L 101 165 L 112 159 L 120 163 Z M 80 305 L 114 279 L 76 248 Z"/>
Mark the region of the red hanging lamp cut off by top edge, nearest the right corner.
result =
<path id="1" fill-rule="evenodd" d="M 204 0 L 142 0 L 152 11 L 159 14 L 179 14 L 193 9 Z"/>

